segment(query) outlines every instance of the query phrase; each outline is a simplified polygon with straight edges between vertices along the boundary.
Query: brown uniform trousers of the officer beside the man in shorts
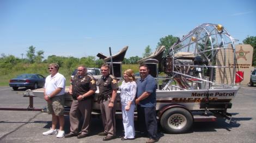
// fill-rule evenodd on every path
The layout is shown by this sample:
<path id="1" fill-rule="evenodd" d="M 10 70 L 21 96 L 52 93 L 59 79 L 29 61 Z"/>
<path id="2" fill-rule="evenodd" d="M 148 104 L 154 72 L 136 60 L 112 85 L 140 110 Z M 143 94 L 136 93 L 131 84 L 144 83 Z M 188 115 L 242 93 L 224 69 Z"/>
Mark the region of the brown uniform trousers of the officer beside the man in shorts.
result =
<path id="1" fill-rule="evenodd" d="M 81 116 L 84 116 L 81 128 L 81 134 L 88 134 L 90 119 L 92 114 L 92 98 L 86 100 L 73 100 L 69 118 L 70 118 L 70 132 L 78 134 L 78 125 Z"/>

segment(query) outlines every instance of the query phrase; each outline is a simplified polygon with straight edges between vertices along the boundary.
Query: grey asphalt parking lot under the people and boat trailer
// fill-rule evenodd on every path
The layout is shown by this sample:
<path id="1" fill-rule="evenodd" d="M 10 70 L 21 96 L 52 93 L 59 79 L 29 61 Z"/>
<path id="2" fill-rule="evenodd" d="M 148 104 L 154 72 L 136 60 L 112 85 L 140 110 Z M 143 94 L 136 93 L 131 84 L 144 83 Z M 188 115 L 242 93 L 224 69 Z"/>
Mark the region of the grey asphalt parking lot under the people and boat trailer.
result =
<path id="1" fill-rule="evenodd" d="M 0 108 L 27 108 L 29 100 L 23 97 L 25 89 L 13 91 L 0 87 Z M 224 119 L 216 122 L 196 122 L 190 132 L 167 134 L 159 131 L 159 142 L 255 142 L 256 141 L 256 87 L 241 86 L 228 112 L 233 115 L 230 124 Z M 46 102 L 34 98 L 35 108 L 44 108 Z M 0 142 L 145 142 L 147 138 L 121 141 L 123 123 L 117 120 L 117 137 L 102 141 L 97 133 L 103 130 L 101 119 L 93 118 L 89 137 L 83 139 L 61 138 L 56 135 L 42 135 L 51 126 L 51 115 L 40 111 L 0 111 Z M 69 133 L 69 116 L 65 115 L 65 133 Z M 137 128 L 137 122 L 135 122 Z"/>

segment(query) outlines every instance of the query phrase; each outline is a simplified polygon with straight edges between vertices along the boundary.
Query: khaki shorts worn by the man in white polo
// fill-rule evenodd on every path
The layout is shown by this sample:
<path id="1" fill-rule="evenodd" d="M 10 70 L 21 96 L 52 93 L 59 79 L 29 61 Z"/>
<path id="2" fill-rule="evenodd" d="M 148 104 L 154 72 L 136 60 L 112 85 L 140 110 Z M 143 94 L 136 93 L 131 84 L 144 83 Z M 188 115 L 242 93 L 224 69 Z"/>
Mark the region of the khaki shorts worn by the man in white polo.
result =
<path id="1" fill-rule="evenodd" d="M 58 95 L 51 98 L 51 103 L 47 102 L 47 111 L 48 114 L 54 115 L 64 115 L 64 95 Z"/>

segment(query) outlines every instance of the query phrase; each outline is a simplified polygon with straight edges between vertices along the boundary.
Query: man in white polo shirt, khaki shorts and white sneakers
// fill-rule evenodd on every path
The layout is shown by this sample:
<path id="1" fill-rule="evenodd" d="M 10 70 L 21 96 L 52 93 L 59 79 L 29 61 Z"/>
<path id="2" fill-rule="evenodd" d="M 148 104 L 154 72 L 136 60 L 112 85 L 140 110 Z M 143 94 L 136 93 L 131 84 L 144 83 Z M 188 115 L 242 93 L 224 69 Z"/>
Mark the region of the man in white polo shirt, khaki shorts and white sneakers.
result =
<path id="1" fill-rule="evenodd" d="M 51 63 L 48 66 L 49 73 L 45 79 L 44 99 L 47 101 L 48 114 L 52 114 L 52 127 L 43 135 L 57 134 L 57 138 L 62 138 L 64 132 L 64 94 L 65 94 L 65 77 L 58 73 L 59 65 Z M 56 126 L 59 122 L 59 131 Z"/>

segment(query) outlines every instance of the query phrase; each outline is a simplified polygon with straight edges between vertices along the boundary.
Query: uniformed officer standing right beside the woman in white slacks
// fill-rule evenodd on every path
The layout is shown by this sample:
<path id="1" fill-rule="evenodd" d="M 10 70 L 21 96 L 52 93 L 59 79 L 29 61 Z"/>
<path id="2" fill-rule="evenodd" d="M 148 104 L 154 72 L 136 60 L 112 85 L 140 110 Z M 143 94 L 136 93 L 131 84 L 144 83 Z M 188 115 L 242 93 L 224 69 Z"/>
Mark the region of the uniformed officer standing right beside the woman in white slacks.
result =
<path id="1" fill-rule="evenodd" d="M 99 102 L 104 131 L 98 135 L 106 136 L 103 141 L 115 138 L 115 98 L 117 96 L 117 79 L 109 74 L 108 64 L 101 66 L 102 77 L 99 80 Z"/>

